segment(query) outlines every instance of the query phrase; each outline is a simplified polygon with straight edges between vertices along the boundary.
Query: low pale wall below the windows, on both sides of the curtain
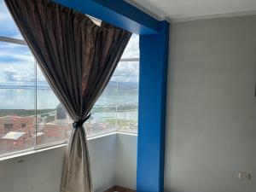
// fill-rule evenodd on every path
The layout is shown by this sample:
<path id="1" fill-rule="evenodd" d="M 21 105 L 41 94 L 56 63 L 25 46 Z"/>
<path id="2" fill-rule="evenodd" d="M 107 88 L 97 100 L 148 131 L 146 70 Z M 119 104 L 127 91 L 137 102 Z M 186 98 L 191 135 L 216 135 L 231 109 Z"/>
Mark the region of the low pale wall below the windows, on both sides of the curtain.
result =
<path id="1" fill-rule="evenodd" d="M 115 134 L 90 140 L 88 144 L 96 192 L 120 183 L 135 186 L 137 137 Z M 60 191 L 65 150 L 66 147 L 54 148 L 1 160 L 0 192 Z"/>

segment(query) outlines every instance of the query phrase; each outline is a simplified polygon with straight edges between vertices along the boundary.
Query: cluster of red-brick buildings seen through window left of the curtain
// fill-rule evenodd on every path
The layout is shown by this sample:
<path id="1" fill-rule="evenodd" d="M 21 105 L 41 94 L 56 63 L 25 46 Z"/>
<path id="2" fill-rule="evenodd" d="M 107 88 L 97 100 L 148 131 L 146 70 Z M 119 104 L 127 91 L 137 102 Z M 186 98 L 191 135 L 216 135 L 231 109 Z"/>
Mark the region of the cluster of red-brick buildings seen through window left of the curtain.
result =
<path id="1" fill-rule="evenodd" d="M 35 130 L 35 116 L 20 117 L 7 115 L 0 117 L 0 154 L 14 152 L 34 146 L 35 137 L 37 144 L 66 140 L 70 135 L 71 125 L 67 124 L 68 115 L 61 106 L 58 106 L 58 115 L 55 120 L 45 122 L 38 117 L 38 130 Z M 57 119 L 59 118 L 59 119 Z"/>

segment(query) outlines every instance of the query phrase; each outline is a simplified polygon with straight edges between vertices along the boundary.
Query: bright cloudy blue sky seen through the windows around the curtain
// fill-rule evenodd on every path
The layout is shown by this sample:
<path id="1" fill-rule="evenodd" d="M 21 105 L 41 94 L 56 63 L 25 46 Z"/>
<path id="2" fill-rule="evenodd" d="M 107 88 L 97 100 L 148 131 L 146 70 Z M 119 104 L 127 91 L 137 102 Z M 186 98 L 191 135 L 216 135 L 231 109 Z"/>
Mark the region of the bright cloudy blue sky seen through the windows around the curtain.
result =
<path id="1" fill-rule="evenodd" d="M 9 14 L 3 0 L 0 0 L 0 36 L 23 39 L 15 21 Z M 138 58 L 137 35 L 132 35 L 123 58 Z M 138 82 L 138 62 L 119 62 L 112 81 Z M 47 84 L 38 69 L 38 84 Z M 0 85 L 33 85 L 35 82 L 35 61 L 26 45 L 0 42 Z"/>

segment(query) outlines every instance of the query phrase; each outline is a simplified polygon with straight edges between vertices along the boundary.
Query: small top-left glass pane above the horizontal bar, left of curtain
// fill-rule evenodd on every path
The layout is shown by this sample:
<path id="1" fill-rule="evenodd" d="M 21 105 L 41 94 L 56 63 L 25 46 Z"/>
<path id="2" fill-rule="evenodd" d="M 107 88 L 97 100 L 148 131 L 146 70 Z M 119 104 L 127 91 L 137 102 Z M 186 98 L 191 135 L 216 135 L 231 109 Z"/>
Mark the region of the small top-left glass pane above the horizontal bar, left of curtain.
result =
<path id="1" fill-rule="evenodd" d="M 23 39 L 3 0 L 0 1 L 0 36 Z"/>

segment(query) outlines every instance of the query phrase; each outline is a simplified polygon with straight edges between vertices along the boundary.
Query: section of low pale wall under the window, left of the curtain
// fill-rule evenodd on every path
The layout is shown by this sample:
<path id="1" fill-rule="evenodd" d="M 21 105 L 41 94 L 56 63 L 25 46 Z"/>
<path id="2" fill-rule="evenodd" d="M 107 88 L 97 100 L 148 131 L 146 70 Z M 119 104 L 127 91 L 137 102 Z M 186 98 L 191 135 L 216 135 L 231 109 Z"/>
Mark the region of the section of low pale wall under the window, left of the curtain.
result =
<path id="1" fill-rule="evenodd" d="M 0 161 L 1 192 L 60 191 L 65 148 Z"/>

